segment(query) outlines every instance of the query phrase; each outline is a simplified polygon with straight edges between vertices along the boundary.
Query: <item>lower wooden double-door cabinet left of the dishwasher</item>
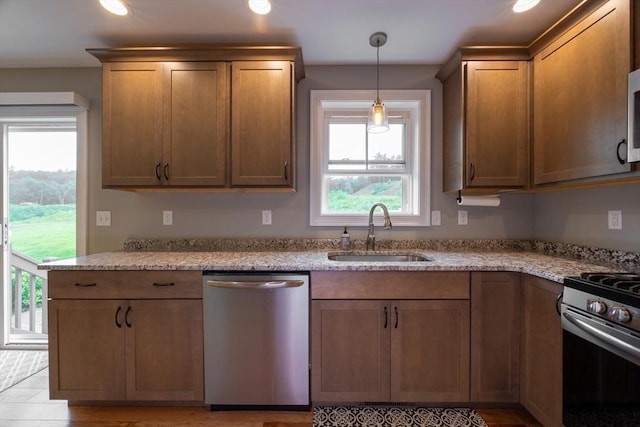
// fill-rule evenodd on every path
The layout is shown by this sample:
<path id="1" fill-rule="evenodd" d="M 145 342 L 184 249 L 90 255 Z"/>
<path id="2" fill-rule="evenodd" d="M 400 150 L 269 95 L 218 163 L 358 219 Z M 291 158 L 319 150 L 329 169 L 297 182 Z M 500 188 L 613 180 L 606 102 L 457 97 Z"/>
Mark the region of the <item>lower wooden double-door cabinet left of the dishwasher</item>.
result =
<path id="1" fill-rule="evenodd" d="M 201 278 L 201 272 L 197 273 L 194 278 Z M 78 275 L 81 279 L 89 276 L 87 272 Z M 50 274 L 52 296 L 60 296 L 49 300 L 50 397 L 202 401 L 202 300 L 167 298 L 172 292 L 169 287 L 189 284 L 166 282 L 162 274 L 153 282 L 156 292 L 146 291 L 149 299 L 108 298 L 109 292 L 126 294 L 128 277 L 101 272 L 95 281 L 71 282 L 73 274 L 65 272 L 60 282 Z M 113 286 L 116 282 L 119 287 Z M 83 296 L 62 298 L 76 291 L 65 290 L 65 285 L 77 287 Z M 139 293 L 140 289 L 131 291 Z M 152 299 L 154 296 L 160 299 Z"/>

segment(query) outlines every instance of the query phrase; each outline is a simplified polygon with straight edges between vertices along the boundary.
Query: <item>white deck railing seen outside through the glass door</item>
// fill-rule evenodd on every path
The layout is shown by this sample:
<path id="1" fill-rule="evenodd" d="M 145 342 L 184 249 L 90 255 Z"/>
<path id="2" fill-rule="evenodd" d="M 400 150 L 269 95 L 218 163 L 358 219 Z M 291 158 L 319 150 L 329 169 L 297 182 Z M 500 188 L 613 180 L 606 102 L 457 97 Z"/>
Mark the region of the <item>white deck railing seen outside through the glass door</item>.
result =
<path id="1" fill-rule="evenodd" d="M 49 326 L 47 322 L 47 295 L 48 295 L 48 283 L 47 283 L 47 272 L 44 270 L 38 270 L 39 262 L 27 255 L 11 251 L 11 267 L 14 270 L 14 278 L 16 285 L 16 292 L 13 293 L 13 306 L 14 306 L 14 315 L 12 316 L 12 329 L 15 331 L 28 331 L 32 333 L 42 333 L 47 334 L 49 331 Z M 28 286 L 28 309 L 24 310 L 25 314 L 28 312 L 28 317 L 23 316 L 22 310 L 22 283 L 23 278 L 27 277 L 29 286 Z M 42 299 L 41 299 L 41 307 L 37 306 L 36 300 L 36 278 L 40 277 L 42 279 Z M 41 310 L 38 310 L 41 308 Z M 36 316 L 40 316 L 38 319 Z M 23 323 L 25 320 L 28 321 L 28 325 Z M 38 325 L 42 325 L 42 328 L 38 330 Z"/>

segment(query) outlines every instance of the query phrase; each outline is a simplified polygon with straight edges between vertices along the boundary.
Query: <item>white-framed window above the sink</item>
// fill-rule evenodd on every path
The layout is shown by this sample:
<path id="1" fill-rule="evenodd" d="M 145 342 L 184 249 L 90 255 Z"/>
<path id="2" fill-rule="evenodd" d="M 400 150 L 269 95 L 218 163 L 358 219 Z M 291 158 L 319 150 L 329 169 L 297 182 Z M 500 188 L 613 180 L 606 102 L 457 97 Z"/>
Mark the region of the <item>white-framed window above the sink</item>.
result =
<path id="1" fill-rule="evenodd" d="M 311 91 L 312 226 L 366 226 L 377 202 L 395 226 L 429 225 L 430 91 L 380 97 L 389 131 L 368 134 L 375 91 Z"/>

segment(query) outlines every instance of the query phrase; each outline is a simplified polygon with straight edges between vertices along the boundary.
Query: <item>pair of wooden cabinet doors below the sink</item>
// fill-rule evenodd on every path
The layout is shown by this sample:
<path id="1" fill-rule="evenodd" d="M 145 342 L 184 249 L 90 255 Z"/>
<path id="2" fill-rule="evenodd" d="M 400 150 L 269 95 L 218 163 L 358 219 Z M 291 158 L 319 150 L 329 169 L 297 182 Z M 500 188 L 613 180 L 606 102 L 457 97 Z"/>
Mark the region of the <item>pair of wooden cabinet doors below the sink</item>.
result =
<path id="1" fill-rule="evenodd" d="M 315 300 L 314 402 L 465 402 L 468 300 Z"/>

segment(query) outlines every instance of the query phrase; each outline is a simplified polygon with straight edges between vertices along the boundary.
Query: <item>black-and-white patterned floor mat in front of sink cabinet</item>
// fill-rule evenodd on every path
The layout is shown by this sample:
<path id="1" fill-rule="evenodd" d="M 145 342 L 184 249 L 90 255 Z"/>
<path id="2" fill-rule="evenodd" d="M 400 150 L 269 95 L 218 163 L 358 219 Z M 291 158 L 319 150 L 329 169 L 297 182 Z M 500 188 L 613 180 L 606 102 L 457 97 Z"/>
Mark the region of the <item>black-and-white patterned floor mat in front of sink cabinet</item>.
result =
<path id="1" fill-rule="evenodd" d="M 473 409 L 319 406 L 314 427 L 486 427 Z"/>

